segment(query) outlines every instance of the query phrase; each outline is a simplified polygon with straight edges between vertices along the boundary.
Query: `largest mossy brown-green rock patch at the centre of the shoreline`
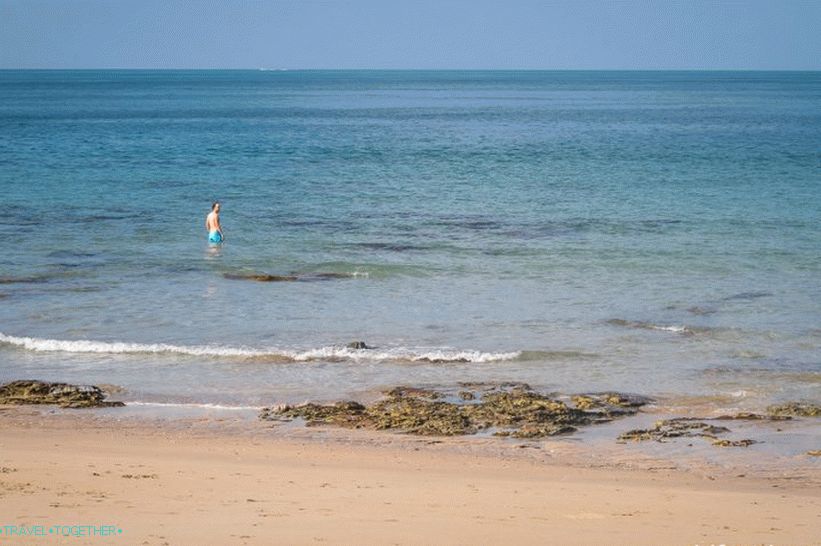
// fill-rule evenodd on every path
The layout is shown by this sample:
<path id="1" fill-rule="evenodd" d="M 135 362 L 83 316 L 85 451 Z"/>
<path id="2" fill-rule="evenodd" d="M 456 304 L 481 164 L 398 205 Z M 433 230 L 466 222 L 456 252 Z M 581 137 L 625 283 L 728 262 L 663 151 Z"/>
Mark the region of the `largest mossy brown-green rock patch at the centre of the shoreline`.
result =
<path id="1" fill-rule="evenodd" d="M 470 387 L 466 390 L 464 387 Z M 521 383 L 462 384 L 455 393 L 395 387 L 369 406 L 358 402 L 314 403 L 265 408 L 264 420 L 302 418 L 307 426 L 396 430 L 422 436 L 454 436 L 488 431 L 496 436 L 540 438 L 573 432 L 578 426 L 636 413 L 641 403 L 618 408 L 598 404 L 595 411 L 570 407 Z M 617 395 L 608 393 L 608 395 Z M 619 398 L 622 400 L 622 398 Z M 627 398 L 623 398 L 627 400 Z"/>

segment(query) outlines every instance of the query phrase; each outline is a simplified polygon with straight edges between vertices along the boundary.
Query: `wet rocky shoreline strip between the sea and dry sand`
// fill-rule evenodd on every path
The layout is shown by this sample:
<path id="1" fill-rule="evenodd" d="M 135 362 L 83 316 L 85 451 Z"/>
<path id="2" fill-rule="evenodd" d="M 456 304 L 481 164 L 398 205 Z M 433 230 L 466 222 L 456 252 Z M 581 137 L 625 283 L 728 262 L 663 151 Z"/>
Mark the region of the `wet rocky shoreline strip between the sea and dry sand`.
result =
<path id="1" fill-rule="evenodd" d="M 744 475 L 821 488 L 821 407 L 812 403 L 707 415 L 704 408 L 678 407 L 673 413 L 658 400 L 637 394 L 544 395 L 510 382 L 461 383 L 458 392 L 394 387 L 359 399 L 264 407 L 122 401 L 125 391 L 111 384 L 23 380 L 0 391 L 0 411 L 23 423 L 45 417 L 67 427 L 77 421 L 103 429 L 156 426 L 172 434 L 270 436 L 366 448 L 437 446 L 457 454 L 540 464 L 663 468 L 711 479 Z"/>

